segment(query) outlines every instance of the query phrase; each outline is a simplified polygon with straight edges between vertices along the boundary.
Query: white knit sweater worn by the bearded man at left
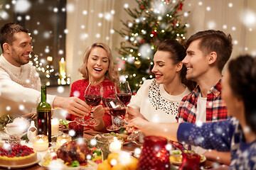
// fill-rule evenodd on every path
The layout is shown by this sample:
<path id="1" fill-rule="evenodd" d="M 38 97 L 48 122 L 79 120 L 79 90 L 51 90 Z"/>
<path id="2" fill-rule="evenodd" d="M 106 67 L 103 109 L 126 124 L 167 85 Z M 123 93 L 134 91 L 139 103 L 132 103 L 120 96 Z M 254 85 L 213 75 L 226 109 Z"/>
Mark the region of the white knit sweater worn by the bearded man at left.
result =
<path id="1" fill-rule="evenodd" d="M 47 100 L 53 106 L 55 96 Z M 0 115 L 18 117 L 31 113 L 41 101 L 41 81 L 31 64 L 16 67 L 0 57 Z"/>

